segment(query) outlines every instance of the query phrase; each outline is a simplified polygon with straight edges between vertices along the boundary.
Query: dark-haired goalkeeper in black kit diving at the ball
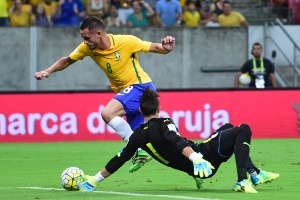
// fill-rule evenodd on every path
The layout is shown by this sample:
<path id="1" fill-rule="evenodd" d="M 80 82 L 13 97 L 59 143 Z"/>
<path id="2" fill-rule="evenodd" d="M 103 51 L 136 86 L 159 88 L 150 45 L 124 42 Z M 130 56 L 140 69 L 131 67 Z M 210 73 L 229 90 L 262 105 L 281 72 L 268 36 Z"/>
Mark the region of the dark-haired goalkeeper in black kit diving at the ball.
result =
<path id="1" fill-rule="evenodd" d="M 213 176 L 220 165 L 233 154 L 237 167 L 235 192 L 257 193 L 254 185 L 270 182 L 279 174 L 259 170 L 249 156 L 251 129 L 247 124 L 225 124 L 202 143 L 194 143 L 181 137 L 170 118 L 159 118 L 160 103 L 157 92 L 147 88 L 140 98 L 140 111 L 145 123 L 130 136 L 127 145 L 113 157 L 95 176 L 85 176 L 80 191 L 93 191 L 105 178 L 130 160 L 138 148 L 142 148 L 163 165 L 186 172 L 192 176 L 197 187 L 202 179 Z M 250 174 L 250 179 L 247 174 Z"/>

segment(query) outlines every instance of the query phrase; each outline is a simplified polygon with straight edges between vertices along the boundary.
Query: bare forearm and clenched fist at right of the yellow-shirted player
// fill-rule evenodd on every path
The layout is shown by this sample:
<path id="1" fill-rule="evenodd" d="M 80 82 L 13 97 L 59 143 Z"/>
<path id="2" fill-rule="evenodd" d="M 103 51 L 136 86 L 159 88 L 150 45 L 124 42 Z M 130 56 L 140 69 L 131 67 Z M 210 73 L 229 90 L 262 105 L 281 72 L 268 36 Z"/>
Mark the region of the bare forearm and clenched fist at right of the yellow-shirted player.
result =
<path id="1" fill-rule="evenodd" d="M 172 36 L 167 36 L 161 39 L 161 44 L 152 43 L 150 46 L 150 52 L 167 54 L 175 48 L 175 38 Z"/>

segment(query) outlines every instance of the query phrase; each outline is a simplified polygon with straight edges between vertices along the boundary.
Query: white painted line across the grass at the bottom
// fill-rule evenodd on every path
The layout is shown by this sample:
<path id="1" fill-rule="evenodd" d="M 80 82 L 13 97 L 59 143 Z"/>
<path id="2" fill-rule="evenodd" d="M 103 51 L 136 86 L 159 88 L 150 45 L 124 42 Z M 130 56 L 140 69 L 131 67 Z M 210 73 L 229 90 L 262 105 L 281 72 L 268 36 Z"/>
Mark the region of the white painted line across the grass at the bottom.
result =
<path id="1" fill-rule="evenodd" d="M 8 188 L 8 187 L 6 187 L 6 188 Z M 43 187 L 9 187 L 9 188 L 33 189 L 33 190 L 56 190 L 56 191 L 64 190 L 64 189 L 59 189 L 59 188 L 43 188 Z M 0 189 L 3 189 L 3 188 L 0 188 Z M 114 191 L 93 191 L 93 193 L 128 195 L 128 196 L 143 196 L 143 197 L 162 197 L 162 198 L 173 198 L 173 199 L 219 200 L 219 199 L 188 197 L 188 196 L 175 196 L 175 195 L 163 195 L 163 194 L 141 194 L 141 193 L 114 192 Z"/>

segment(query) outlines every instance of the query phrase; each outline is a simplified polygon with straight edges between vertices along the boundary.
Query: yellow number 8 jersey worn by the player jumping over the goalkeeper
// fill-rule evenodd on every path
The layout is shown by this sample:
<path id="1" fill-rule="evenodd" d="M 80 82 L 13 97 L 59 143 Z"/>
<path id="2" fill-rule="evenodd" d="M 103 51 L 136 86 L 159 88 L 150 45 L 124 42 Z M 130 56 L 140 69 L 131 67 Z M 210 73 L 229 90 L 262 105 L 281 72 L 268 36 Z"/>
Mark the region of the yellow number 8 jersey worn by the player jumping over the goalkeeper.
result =
<path id="1" fill-rule="evenodd" d="M 133 35 L 108 34 L 111 46 L 107 50 L 90 50 L 81 43 L 71 54 L 74 61 L 90 56 L 107 75 L 113 91 L 120 92 L 132 84 L 151 82 L 142 69 L 138 52 L 149 52 L 151 42 L 143 41 Z"/>

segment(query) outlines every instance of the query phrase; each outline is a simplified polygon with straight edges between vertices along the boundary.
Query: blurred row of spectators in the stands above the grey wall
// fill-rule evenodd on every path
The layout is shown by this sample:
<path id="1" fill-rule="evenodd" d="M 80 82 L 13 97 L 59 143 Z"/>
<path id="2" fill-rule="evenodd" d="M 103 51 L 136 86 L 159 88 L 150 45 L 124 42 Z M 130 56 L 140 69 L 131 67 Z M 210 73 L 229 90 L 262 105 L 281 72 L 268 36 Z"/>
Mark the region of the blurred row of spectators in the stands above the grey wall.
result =
<path id="1" fill-rule="evenodd" d="M 115 27 L 248 26 L 226 0 L 0 0 L 0 26 L 77 27 L 87 16 Z"/>

